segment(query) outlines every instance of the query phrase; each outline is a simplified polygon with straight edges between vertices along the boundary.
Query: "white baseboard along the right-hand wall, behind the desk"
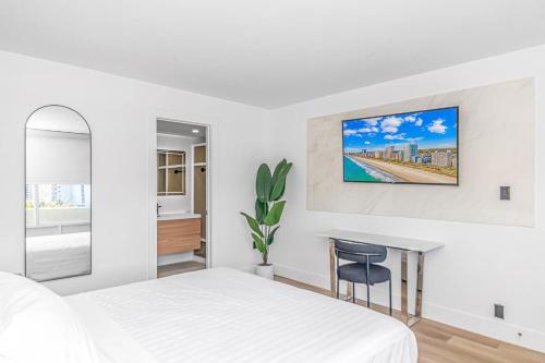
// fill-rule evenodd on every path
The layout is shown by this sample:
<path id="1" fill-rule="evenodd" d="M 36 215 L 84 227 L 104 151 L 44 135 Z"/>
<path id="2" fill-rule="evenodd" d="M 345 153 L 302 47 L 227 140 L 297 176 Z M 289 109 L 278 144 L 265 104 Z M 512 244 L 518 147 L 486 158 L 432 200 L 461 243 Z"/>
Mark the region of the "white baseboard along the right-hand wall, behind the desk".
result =
<path id="1" fill-rule="evenodd" d="M 317 275 L 301 269 L 275 264 L 275 274 L 281 277 L 308 283 L 318 288 L 329 289 L 329 277 Z M 340 291 L 344 287 L 341 285 Z M 365 288 L 360 287 L 356 297 L 365 299 Z M 372 287 L 371 301 L 387 305 L 387 295 L 383 289 Z M 392 293 L 393 308 L 399 310 L 399 293 Z M 483 317 L 459 311 L 452 307 L 436 305 L 423 301 L 422 316 L 432 320 L 444 323 L 460 329 L 473 331 L 486 337 L 506 341 L 516 346 L 545 352 L 545 332 L 528 329 L 506 322 Z M 520 334 L 520 335 L 519 335 Z"/>

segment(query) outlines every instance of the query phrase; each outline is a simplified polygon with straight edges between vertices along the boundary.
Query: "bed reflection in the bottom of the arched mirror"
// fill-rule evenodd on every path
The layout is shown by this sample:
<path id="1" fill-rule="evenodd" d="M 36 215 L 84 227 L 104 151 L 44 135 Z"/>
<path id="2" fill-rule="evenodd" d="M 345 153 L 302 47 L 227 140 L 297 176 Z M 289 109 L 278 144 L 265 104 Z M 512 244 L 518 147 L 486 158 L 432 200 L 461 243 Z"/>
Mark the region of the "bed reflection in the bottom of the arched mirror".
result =
<path id="1" fill-rule="evenodd" d="M 44 281 L 90 273 L 90 232 L 26 239 L 27 277 Z"/>

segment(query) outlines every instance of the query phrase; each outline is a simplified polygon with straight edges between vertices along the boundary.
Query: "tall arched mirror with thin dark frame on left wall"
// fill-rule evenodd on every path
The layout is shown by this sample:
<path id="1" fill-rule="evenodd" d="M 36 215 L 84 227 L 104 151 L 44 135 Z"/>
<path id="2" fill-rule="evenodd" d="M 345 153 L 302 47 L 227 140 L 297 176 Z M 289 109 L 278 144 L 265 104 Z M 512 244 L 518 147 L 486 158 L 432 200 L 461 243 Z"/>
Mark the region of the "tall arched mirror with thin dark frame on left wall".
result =
<path id="1" fill-rule="evenodd" d="M 90 130 L 64 106 L 26 122 L 26 277 L 90 274 Z"/>

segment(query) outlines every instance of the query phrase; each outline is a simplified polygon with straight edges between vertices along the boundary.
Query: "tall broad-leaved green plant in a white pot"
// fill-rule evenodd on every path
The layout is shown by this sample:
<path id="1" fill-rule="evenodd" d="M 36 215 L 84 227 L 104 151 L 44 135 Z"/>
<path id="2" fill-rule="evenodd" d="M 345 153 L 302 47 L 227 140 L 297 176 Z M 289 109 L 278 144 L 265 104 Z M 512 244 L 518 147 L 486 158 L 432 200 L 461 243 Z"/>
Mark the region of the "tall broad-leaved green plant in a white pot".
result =
<path id="1" fill-rule="evenodd" d="M 286 201 L 281 201 L 286 191 L 286 177 L 292 167 L 291 162 L 282 159 L 272 174 L 266 164 L 262 164 L 257 169 L 255 181 L 255 217 L 252 217 L 243 211 L 241 214 L 246 217 L 250 226 L 254 249 L 257 249 L 263 257 L 263 263 L 258 264 L 255 273 L 258 276 L 272 279 L 275 275 L 272 264 L 268 263 L 269 246 L 275 242 L 275 233 L 280 226 Z"/>

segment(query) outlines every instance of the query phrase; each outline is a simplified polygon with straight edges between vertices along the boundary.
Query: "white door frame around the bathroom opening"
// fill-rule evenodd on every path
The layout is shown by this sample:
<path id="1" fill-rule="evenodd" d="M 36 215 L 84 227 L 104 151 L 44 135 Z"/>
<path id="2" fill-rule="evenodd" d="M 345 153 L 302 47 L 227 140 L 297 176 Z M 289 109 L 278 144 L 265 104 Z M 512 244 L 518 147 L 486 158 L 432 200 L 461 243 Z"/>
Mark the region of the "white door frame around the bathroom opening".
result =
<path id="1" fill-rule="evenodd" d="M 148 142 L 148 279 L 157 278 L 157 121 L 168 121 L 184 124 L 204 126 L 206 129 L 206 268 L 213 267 L 213 125 L 209 118 L 199 116 L 164 117 L 153 116 L 149 118 L 149 142 Z M 192 120 L 192 121 L 187 121 Z M 194 121 L 195 120 L 195 121 Z M 193 166 L 193 159 L 192 159 Z M 193 193 L 193 178 L 192 193 Z M 193 209 L 193 194 L 191 196 L 191 208 Z"/>

